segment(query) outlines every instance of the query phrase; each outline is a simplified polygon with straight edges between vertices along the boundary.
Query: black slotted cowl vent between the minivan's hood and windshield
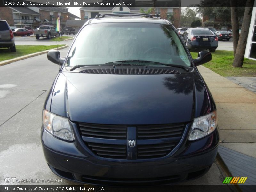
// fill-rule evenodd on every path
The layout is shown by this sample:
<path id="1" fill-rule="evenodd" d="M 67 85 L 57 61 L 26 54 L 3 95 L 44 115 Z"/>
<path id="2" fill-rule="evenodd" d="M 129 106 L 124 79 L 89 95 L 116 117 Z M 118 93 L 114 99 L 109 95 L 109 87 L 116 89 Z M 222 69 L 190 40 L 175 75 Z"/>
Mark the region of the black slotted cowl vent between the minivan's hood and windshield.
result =
<path id="1" fill-rule="evenodd" d="M 114 74 L 114 75 L 180 74 L 178 70 L 154 69 L 154 68 L 93 68 L 93 69 L 84 69 L 79 73 Z"/>

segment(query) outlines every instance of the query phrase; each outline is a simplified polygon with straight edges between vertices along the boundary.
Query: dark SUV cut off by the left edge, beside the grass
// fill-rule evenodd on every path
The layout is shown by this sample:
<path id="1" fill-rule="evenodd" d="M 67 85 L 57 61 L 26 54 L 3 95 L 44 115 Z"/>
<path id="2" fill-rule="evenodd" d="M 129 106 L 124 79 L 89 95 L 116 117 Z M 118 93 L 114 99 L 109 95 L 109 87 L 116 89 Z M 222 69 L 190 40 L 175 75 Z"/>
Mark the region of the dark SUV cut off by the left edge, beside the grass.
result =
<path id="1" fill-rule="evenodd" d="M 16 52 L 13 32 L 5 20 L 0 20 L 0 48 L 9 48 L 11 52 Z"/>

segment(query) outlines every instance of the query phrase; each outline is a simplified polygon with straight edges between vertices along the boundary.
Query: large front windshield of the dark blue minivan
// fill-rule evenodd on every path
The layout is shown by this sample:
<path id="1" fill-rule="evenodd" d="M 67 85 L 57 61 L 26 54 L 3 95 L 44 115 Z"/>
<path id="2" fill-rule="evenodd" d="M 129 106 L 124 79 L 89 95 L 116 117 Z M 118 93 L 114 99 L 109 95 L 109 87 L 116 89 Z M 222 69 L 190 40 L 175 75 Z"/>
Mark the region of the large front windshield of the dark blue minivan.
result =
<path id="1" fill-rule="evenodd" d="M 123 60 L 191 65 L 179 36 L 169 25 L 121 22 L 85 26 L 72 45 L 65 65 L 104 65 Z"/>

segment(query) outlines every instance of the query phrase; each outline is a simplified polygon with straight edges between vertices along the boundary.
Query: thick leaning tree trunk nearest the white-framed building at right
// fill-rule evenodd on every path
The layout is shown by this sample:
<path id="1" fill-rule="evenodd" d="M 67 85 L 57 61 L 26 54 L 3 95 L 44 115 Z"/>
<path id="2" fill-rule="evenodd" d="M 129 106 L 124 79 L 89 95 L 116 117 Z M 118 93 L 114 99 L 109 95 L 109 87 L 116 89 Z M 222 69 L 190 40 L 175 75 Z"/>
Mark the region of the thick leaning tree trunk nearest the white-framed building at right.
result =
<path id="1" fill-rule="evenodd" d="M 252 17 L 252 9 L 253 9 L 254 0 L 247 0 L 244 10 L 244 17 L 242 23 L 242 29 L 240 32 L 236 54 L 233 62 L 234 67 L 242 67 L 244 62 L 244 53 L 246 48 L 247 36 L 249 33 L 249 27 Z"/>

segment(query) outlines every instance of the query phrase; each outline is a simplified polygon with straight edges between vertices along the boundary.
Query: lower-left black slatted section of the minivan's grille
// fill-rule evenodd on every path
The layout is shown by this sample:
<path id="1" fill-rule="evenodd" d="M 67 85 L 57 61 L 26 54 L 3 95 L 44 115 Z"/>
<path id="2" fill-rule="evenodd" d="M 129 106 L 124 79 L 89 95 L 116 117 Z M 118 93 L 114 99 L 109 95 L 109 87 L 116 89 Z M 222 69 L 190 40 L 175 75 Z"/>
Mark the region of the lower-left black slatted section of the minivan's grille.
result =
<path id="1" fill-rule="evenodd" d="M 87 144 L 98 156 L 118 159 L 126 158 L 126 145 L 111 145 L 91 142 L 88 142 Z"/>

